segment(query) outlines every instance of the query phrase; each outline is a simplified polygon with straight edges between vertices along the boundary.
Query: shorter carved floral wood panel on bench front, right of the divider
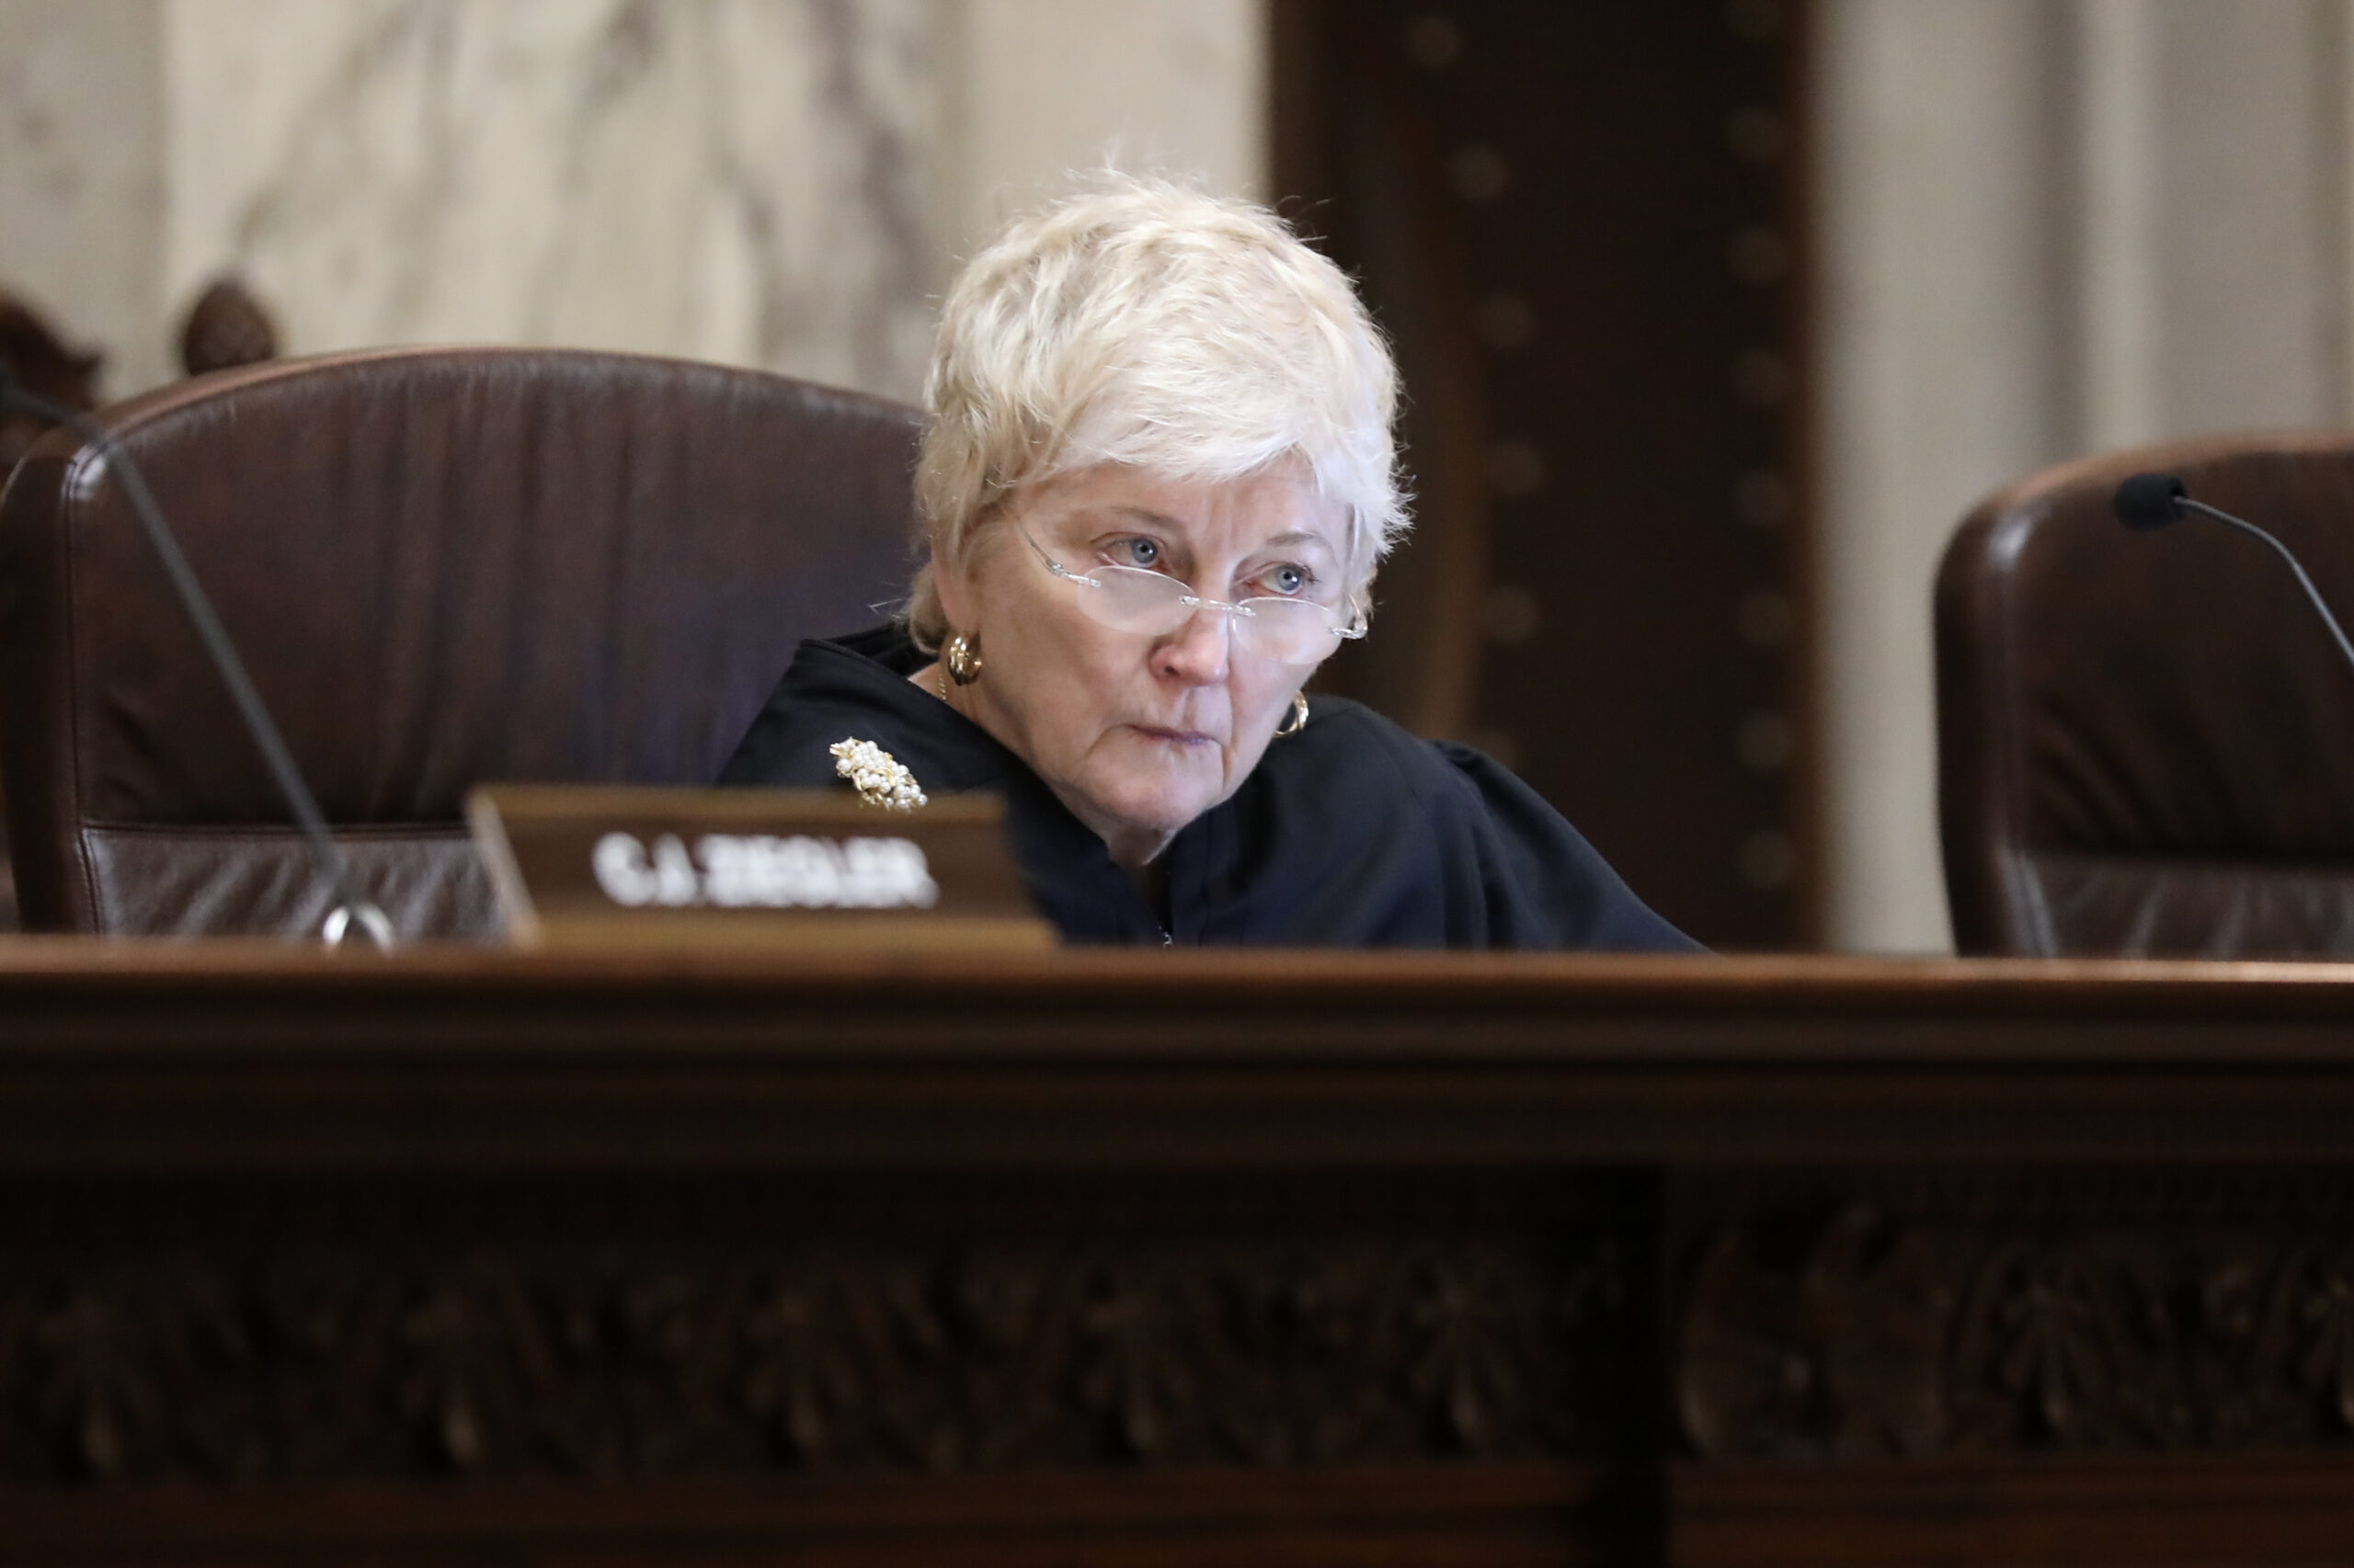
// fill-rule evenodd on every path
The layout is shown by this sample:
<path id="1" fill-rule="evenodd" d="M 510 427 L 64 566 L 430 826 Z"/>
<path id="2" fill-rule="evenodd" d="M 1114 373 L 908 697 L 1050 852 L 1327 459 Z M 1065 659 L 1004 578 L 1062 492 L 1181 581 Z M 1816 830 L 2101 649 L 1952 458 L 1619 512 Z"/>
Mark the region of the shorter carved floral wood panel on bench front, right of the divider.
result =
<path id="1" fill-rule="evenodd" d="M 2354 1180 L 1848 1177 L 1695 1227 L 1702 1457 L 2354 1443 Z"/>

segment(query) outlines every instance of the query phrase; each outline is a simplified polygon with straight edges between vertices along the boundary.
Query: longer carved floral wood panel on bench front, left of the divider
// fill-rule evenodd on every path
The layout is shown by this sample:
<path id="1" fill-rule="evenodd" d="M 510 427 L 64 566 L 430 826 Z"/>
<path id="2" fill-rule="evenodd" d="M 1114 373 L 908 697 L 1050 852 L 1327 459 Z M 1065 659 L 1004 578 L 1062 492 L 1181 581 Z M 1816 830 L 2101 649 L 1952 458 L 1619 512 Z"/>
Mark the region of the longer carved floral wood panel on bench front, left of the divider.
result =
<path id="1" fill-rule="evenodd" d="M 1594 1455 L 1627 1257 L 1427 1182 L 9 1187 L 0 1483 Z"/>

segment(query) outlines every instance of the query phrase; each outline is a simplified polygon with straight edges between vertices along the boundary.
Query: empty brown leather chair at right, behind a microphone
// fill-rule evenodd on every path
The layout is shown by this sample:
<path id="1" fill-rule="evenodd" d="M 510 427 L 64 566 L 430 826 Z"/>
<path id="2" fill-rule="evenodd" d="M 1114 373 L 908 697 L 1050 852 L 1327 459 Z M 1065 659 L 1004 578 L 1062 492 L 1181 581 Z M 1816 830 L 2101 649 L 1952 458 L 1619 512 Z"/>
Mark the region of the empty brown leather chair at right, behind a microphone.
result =
<path id="1" fill-rule="evenodd" d="M 2354 617 L 2354 436 L 2239 436 L 2039 473 L 1937 574 L 1940 817 L 1975 954 L 2354 956 L 2354 669 L 2262 542 L 2152 534 L 2177 473 Z"/>

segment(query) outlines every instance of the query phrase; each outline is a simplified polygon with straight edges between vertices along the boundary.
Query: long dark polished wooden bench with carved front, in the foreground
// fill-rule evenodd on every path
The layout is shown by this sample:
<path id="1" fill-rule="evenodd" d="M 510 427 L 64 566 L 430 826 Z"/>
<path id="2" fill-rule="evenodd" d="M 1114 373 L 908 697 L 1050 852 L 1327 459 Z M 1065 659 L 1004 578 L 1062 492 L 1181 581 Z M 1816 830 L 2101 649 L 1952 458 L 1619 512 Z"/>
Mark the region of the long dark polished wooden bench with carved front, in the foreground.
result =
<path id="1" fill-rule="evenodd" d="M 0 1561 L 2328 1561 L 2349 982 L 19 939 Z"/>

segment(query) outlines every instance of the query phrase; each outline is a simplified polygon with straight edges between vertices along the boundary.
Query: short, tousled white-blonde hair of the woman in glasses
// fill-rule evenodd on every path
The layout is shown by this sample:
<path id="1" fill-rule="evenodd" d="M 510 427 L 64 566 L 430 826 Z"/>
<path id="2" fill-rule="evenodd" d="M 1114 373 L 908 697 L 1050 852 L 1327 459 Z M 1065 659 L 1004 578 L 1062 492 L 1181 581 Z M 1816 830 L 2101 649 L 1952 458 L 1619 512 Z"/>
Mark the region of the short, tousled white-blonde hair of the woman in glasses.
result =
<path id="1" fill-rule="evenodd" d="M 1389 344 L 1255 202 L 1104 174 L 1015 219 L 949 287 L 923 398 L 932 560 L 963 560 L 1024 485 L 1097 464 L 1217 483 L 1302 461 L 1349 509 L 1361 603 L 1408 525 Z M 951 631 L 930 563 L 909 631 L 925 650 Z"/>

